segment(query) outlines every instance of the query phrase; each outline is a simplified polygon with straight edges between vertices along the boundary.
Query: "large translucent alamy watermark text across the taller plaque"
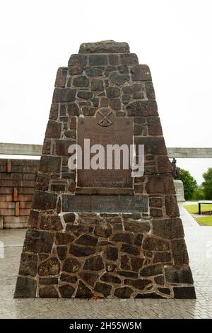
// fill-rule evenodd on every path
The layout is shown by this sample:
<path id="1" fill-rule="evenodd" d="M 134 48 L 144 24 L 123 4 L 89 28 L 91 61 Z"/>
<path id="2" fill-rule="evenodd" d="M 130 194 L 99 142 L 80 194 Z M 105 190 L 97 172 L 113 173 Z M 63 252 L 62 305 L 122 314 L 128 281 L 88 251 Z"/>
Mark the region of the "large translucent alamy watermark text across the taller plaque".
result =
<path id="1" fill-rule="evenodd" d="M 144 173 L 144 145 L 90 145 L 90 139 L 84 139 L 83 148 L 73 144 L 68 152 L 71 170 L 131 169 L 132 177 L 141 177 Z"/>

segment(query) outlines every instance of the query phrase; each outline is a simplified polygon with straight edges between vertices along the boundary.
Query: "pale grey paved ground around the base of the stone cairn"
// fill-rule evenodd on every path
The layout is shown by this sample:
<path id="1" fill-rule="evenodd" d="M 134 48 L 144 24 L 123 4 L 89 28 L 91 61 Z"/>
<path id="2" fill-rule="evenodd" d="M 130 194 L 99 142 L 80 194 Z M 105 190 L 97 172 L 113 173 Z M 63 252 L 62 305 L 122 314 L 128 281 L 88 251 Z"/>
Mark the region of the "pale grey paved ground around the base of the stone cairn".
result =
<path id="1" fill-rule="evenodd" d="M 212 227 L 199 227 L 182 205 L 180 211 L 196 300 L 14 300 L 25 230 L 1 230 L 0 318 L 212 318 Z"/>

